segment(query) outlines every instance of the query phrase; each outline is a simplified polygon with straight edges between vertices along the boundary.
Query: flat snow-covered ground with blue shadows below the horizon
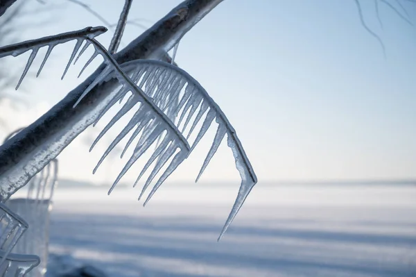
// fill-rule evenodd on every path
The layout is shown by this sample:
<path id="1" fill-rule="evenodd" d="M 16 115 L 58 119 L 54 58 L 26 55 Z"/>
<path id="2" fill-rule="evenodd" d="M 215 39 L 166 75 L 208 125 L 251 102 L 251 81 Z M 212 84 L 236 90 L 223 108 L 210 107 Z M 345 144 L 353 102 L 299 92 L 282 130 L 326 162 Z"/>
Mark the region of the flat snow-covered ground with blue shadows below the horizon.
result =
<path id="1" fill-rule="evenodd" d="M 416 187 L 261 186 L 216 242 L 238 187 L 58 188 L 50 251 L 108 276 L 416 276 Z"/>

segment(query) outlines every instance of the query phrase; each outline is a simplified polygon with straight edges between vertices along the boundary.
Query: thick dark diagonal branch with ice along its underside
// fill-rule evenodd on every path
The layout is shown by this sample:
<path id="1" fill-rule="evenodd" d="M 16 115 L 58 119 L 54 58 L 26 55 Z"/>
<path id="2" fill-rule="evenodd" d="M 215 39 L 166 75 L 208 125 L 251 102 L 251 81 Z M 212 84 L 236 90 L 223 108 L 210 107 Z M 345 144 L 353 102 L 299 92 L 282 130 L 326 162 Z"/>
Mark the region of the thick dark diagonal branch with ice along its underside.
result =
<path id="1" fill-rule="evenodd" d="M 180 38 L 222 0 L 187 0 L 114 55 L 119 64 L 165 55 Z M 119 82 L 110 78 L 96 85 L 76 108 L 78 98 L 105 69 L 98 67 L 51 110 L 0 146 L 0 197 L 6 201 L 71 141 L 93 124 L 114 95 Z"/>

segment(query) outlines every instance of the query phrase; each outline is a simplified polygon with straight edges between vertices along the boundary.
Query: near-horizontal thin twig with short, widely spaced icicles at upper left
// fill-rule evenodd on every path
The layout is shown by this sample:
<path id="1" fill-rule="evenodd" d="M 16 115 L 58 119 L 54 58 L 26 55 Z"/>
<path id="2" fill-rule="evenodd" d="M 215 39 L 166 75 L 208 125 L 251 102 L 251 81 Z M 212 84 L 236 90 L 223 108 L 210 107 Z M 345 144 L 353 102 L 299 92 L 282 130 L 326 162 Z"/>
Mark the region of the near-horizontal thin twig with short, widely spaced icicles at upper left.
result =
<path id="1" fill-rule="evenodd" d="M 71 40 L 77 41 L 76 46 L 71 53 L 71 58 L 69 59 L 69 63 L 67 64 L 67 67 L 65 67 L 64 74 L 62 75 L 62 78 L 64 78 L 65 74 L 68 71 L 70 63 L 72 62 L 73 58 L 78 52 L 78 49 L 80 48 L 83 41 L 87 39 L 93 39 L 97 35 L 101 35 L 102 33 L 105 33 L 106 31 L 107 31 L 107 28 L 103 26 L 87 27 L 79 31 L 71 31 L 67 33 L 60 33 L 58 35 L 41 37 L 40 39 L 37 39 L 37 40 L 26 40 L 25 42 L 11 44 L 6 47 L 0 47 L 0 58 L 6 57 L 6 56 L 17 57 L 21 55 L 22 53 L 26 53 L 26 51 L 30 51 L 30 50 L 32 51 L 31 56 L 29 56 L 28 62 L 26 63 L 26 67 L 24 68 L 24 71 L 21 74 L 19 83 L 17 83 L 17 86 L 16 86 L 16 90 L 17 90 L 19 86 L 21 85 L 21 82 L 23 81 L 24 77 L 26 76 L 29 68 L 31 67 L 32 62 L 37 55 L 37 52 L 42 47 L 48 47 L 48 50 L 46 51 L 44 60 L 42 61 L 42 64 L 40 65 L 40 68 L 37 71 L 36 76 L 39 76 L 40 72 L 42 71 L 46 63 L 46 60 L 49 58 L 51 51 L 53 50 L 53 47 L 55 47 L 58 44 L 69 42 Z"/>

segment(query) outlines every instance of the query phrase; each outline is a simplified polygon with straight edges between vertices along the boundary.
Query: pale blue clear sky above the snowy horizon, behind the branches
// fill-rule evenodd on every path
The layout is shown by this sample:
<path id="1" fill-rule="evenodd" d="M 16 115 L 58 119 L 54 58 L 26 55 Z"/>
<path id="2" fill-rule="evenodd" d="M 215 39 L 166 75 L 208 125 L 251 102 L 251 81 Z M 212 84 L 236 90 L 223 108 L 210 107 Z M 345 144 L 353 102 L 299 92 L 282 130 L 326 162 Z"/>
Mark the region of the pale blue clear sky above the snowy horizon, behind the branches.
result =
<path id="1" fill-rule="evenodd" d="M 179 2 L 136 0 L 130 19 L 146 19 L 141 23 L 150 26 Z M 260 182 L 416 178 L 415 28 L 380 3 L 381 28 L 373 1 L 363 2 L 367 24 L 383 40 L 386 58 L 361 25 L 354 0 L 225 0 L 180 42 L 176 62 L 223 109 Z M 112 23 L 123 6 L 123 1 L 85 3 Z M 416 5 L 403 3 L 416 23 Z M 102 25 L 64 0 L 48 6 L 32 1 L 26 8 L 37 16 L 28 14 L 19 22 L 37 24 L 19 40 Z M 128 25 L 123 45 L 141 31 Z M 109 32 L 99 40 L 108 45 L 110 38 Z M 82 65 L 60 81 L 71 47 L 55 50 L 41 78 L 24 81 L 20 94 L 31 104 L 10 110 L 15 120 L 10 129 L 33 120 L 78 84 Z M 37 57 L 37 65 L 42 58 Z M 0 62 L 14 62 L 22 70 L 26 59 Z M 171 180 L 193 181 L 213 135 Z M 115 160 L 92 176 L 103 149 L 88 153 L 85 137 L 60 156 L 61 176 L 102 182 Z M 224 141 L 201 181 L 238 179 Z"/>

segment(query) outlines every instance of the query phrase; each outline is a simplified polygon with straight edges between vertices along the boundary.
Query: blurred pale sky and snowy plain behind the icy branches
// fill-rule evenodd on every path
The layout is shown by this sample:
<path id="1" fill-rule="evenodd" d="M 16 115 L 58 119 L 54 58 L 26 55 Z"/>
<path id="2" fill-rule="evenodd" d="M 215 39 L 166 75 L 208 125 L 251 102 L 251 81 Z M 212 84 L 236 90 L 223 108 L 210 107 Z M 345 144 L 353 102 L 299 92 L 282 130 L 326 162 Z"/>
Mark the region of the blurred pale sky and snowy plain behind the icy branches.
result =
<path id="1" fill-rule="evenodd" d="M 135 1 L 121 47 L 177 3 Z M 416 5 L 358 3 L 365 25 L 353 0 L 227 0 L 181 40 L 175 62 L 223 109 L 259 178 L 219 244 L 240 183 L 225 142 L 193 184 L 215 128 L 142 209 L 131 187 L 142 165 L 110 197 L 124 160 L 92 174 L 114 138 L 88 153 L 107 117 L 59 156 L 52 255 L 114 276 L 415 276 Z M 0 46 L 100 25 L 107 46 L 122 6 L 18 0 L 0 18 Z M 100 64 L 77 78 L 89 49 L 61 81 L 74 44 L 35 78 L 41 49 L 17 91 L 29 53 L 1 58 L 1 138 Z"/>

